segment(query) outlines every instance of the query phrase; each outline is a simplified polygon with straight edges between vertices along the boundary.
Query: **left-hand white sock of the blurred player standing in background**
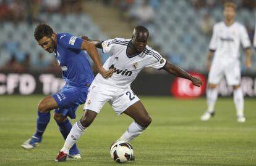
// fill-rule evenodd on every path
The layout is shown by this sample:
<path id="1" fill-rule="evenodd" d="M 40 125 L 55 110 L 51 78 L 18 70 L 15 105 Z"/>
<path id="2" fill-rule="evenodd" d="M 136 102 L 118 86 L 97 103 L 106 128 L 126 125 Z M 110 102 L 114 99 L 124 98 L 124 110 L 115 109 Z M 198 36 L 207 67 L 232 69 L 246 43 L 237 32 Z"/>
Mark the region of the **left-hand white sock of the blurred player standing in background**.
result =
<path id="1" fill-rule="evenodd" d="M 218 88 L 215 89 L 207 89 L 207 104 L 208 104 L 208 109 L 207 111 L 210 113 L 213 113 L 215 110 L 215 103 L 218 98 Z"/>

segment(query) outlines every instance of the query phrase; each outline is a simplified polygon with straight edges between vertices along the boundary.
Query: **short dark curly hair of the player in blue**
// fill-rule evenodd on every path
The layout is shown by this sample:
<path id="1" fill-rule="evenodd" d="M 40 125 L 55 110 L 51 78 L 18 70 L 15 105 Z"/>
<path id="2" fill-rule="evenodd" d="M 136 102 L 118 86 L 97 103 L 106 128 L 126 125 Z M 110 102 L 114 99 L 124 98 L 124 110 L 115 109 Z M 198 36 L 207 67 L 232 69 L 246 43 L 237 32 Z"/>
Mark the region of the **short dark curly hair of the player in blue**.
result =
<path id="1" fill-rule="evenodd" d="M 39 25 L 37 25 L 34 32 L 36 41 L 39 41 L 44 36 L 51 38 L 52 34 L 53 34 L 53 29 L 45 23 L 40 23 Z"/>

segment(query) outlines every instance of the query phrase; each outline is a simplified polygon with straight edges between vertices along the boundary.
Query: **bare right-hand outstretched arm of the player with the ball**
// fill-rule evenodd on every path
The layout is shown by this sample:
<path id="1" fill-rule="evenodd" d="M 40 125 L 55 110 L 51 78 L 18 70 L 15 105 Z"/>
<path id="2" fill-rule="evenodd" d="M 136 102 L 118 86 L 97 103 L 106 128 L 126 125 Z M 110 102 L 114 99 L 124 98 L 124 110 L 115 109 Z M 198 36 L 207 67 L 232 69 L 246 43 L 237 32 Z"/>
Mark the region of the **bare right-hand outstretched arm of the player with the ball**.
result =
<path id="1" fill-rule="evenodd" d="M 203 82 L 200 79 L 198 79 L 197 77 L 190 75 L 183 69 L 181 69 L 178 66 L 173 65 L 171 63 L 167 63 L 163 69 L 166 70 L 170 74 L 174 74 L 177 77 L 189 79 L 197 87 L 200 87 L 203 84 Z"/>

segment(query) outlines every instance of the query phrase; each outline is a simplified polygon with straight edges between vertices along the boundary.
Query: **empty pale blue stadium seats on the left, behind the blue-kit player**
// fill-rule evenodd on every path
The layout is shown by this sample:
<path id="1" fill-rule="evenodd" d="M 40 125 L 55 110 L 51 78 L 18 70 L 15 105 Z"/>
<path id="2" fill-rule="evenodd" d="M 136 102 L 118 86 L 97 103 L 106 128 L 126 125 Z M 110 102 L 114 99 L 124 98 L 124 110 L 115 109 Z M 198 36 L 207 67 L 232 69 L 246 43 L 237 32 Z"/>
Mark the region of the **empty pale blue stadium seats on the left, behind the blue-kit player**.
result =
<path id="1" fill-rule="evenodd" d="M 61 14 L 41 15 L 46 22 L 57 33 L 72 33 L 76 36 L 87 35 L 92 39 L 106 39 L 99 28 L 92 22 L 88 15 L 66 15 Z M 19 61 L 23 61 L 25 53 L 30 53 L 31 60 L 35 61 L 39 52 L 42 52 L 45 59 L 52 61 L 54 56 L 43 51 L 36 44 L 33 36 L 36 24 L 6 22 L 0 26 L 0 66 L 11 58 L 11 53 L 15 53 Z M 100 52 L 100 54 L 102 54 Z"/>

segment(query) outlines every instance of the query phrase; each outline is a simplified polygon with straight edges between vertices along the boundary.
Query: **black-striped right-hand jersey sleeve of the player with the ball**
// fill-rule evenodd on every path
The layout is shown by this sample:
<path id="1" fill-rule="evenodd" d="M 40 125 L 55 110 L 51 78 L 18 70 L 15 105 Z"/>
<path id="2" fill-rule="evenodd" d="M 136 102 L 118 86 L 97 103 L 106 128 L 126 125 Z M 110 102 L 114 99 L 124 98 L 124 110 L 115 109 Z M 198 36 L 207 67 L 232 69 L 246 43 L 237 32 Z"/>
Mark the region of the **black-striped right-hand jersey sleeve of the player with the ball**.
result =
<path id="1" fill-rule="evenodd" d="M 160 55 L 160 53 L 153 49 L 147 50 L 146 54 L 149 56 L 148 64 L 145 66 L 146 68 L 151 67 L 162 69 L 167 63 L 167 61 Z"/>

